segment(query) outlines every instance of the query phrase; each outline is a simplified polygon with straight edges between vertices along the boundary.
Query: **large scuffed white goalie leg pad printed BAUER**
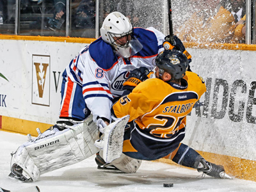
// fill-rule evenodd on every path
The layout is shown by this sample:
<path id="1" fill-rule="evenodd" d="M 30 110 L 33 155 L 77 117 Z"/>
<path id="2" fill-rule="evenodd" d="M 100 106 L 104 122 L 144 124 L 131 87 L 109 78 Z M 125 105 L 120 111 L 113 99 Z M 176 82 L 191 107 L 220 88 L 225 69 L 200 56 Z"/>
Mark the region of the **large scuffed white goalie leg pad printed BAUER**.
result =
<path id="1" fill-rule="evenodd" d="M 99 149 L 94 143 L 99 140 L 99 129 L 90 115 L 83 123 L 72 126 L 72 129 L 59 131 L 48 129 L 38 137 L 21 145 L 13 160 L 28 174 L 33 181 L 42 173 L 78 163 Z M 23 174 L 22 173 L 22 174 Z"/>

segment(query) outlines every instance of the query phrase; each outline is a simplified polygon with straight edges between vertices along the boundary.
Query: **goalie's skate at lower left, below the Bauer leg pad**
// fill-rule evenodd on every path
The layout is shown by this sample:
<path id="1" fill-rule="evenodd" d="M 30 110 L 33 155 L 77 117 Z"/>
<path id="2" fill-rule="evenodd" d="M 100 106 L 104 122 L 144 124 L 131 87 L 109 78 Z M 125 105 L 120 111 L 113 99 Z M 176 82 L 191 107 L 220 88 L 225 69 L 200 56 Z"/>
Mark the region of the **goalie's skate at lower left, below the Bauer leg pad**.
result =
<path id="1" fill-rule="evenodd" d="M 11 168 L 11 173 L 8 175 L 10 179 L 17 179 L 21 182 L 33 182 L 28 173 L 26 173 L 19 165 L 14 163 Z"/>

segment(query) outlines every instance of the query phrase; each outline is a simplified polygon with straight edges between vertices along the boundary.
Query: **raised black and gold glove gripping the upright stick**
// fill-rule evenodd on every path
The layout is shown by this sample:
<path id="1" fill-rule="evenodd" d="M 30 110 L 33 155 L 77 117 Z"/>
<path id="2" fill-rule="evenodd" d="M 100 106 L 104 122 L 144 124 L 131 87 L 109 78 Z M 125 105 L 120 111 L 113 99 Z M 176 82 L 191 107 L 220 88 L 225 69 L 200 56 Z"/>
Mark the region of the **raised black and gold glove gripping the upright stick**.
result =
<path id="1" fill-rule="evenodd" d="M 173 45 L 170 43 L 170 35 L 167 35 L 165 38 L 164 38 L 165 42 L 163 42 L 163 47 L 165 50 L 168 50 L 168 49 L 177 49 L 178 51 L 181 51 L 183 52 L 187 58 L 188 58 L 188 62 L 190 63 L 191 62 L 191 55 L 189 54 L 188 51 L 186 51 L 184 45 L 182 44 L 181 40 L 176 36 L 176 35 L 173 35 Z"/>

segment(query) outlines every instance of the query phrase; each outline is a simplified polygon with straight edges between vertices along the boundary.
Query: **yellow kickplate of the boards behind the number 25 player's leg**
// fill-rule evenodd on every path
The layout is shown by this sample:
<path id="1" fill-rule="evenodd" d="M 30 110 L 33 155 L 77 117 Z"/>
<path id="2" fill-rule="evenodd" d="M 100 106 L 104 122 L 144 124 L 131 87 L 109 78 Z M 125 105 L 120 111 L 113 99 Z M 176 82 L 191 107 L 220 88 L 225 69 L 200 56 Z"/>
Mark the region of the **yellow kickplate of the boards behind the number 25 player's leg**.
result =
<path id="1" fill-rule="evenodd" d="M 221 164 L 225 167 L 225 171 L 230 176 L 234 176 L 238 179 L 253 180 L 256 181 L 256 161 L 241 159 L 239 157 L 225 156 L 220 154 L 213 154 L 210 152 L 197 151 L 207 161 L 215 164 Z M 170 159 L 159 159 L 157 161 L 163 163 L 176 164 Z M 179 164 L 176 164 L 180 166 Z M 182 166 L 184 168 L 184 166 Z"/>

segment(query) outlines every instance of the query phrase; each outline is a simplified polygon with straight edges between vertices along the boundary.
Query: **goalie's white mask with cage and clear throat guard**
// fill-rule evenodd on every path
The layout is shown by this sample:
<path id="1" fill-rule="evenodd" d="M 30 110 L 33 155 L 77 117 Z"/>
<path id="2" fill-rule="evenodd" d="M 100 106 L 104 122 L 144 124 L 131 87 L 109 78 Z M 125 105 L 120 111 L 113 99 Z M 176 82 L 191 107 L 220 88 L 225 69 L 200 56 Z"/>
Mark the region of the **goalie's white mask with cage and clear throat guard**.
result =
<path id="1" fill-rule="evenodd" d="M 120 12 L 109 13 L 100 28 L 100 35 L 122 58 L 129 58 L 143 47 L 133 34 L 130 20 Z"/>

